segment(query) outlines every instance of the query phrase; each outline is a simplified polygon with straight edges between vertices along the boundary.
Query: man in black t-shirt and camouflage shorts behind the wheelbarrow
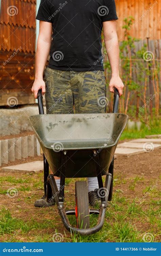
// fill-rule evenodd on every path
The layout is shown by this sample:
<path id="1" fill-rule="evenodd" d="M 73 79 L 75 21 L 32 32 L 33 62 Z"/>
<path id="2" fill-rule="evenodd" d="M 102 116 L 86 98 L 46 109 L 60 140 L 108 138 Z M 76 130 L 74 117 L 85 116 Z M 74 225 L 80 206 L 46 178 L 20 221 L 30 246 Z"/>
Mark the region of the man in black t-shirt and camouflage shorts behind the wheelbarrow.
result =
<path id="1" fill-rule="evenodd" d="M 118 19 L 114 0 L 41 0 L 36 19 L 40 20 L 36 51 L 34 97 L 46 93 L 47 114 L 105 113 L 106 83 L 101 53 L 103 28 L 106 51 L 111 66 L 109 89 L 122 95 L 119 76 Z M 52 35 L 52 40 L 51 40 Z M 43 71 L 50 52 L 49 65 Z M 62 97 L 63 95 L 63 97 Z M 56 179 L 59 189 L 60 180 Z M 100 204 L 97 178 L 88 178 L 89 202 Z M 53 205 L 45 197 L 36 207 Z"/>

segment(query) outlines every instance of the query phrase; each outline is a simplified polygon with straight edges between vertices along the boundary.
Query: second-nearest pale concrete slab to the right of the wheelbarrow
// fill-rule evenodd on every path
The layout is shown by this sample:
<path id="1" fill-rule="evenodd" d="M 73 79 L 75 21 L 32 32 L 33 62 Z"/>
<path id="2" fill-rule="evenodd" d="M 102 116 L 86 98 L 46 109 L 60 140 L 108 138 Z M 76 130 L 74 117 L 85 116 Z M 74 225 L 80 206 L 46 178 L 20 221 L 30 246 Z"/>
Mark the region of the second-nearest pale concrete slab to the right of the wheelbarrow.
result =
<path id="1" fill-rule="evenodd" d="M 154 144 L 153 142 L 145 142 L 145 143 L 134 143 L 134 142 L 124 142 L 121 144 L 118 144 L 118 147 L 126 147 L 126 148 L 146 148 L 147 146 L 151 146 L 151 148 L 154 150 L 154 148 L 160 148 L 161 144 Z M 147 146 L 146 146 L 147 145 Z"/>

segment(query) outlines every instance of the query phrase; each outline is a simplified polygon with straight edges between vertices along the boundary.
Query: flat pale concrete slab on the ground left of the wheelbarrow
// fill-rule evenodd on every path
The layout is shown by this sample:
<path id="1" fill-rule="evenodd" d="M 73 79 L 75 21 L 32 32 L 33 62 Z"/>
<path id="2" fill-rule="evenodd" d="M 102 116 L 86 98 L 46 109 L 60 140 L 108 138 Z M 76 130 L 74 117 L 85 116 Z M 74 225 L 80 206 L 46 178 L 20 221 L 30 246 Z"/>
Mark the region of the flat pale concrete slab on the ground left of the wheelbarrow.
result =
<path id="1" fill-rule="evenodd" d="M 20 172 L 20 173 L 38 173 L 43 171 L 43 161 L 34 161 L 22 163 L 20 165 L 13 165 L 3 167 L 4 172 Z"/>

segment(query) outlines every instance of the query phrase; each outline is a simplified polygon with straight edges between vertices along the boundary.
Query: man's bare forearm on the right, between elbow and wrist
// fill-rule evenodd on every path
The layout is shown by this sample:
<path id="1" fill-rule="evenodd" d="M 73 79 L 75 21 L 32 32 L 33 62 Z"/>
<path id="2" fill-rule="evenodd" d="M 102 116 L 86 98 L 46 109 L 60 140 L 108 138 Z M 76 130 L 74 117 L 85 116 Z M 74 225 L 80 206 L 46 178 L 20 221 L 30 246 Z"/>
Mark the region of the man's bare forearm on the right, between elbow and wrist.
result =
<path id="1" fill-rule="evenodd" d="M 110 40 L 105 40 L 105 46 L 111 66 L 112 76 L 119 76 L 119 42 L 117 35 Z"/>

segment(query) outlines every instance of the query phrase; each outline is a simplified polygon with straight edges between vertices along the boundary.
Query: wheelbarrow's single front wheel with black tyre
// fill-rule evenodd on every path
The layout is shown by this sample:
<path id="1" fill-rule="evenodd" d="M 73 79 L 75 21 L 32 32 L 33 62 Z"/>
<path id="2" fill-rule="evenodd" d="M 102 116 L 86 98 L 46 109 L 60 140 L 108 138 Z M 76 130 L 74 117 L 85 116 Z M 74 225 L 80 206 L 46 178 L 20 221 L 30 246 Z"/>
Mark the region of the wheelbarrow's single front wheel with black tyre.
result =
<path id="1" fill-rule="evenodd" d="M 86 181 L 75 182 L 75 201 L 77 228 L 89 228 L 89 199 L 88 185 Z"/>

